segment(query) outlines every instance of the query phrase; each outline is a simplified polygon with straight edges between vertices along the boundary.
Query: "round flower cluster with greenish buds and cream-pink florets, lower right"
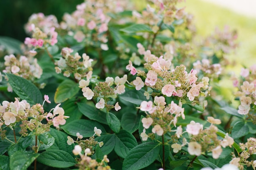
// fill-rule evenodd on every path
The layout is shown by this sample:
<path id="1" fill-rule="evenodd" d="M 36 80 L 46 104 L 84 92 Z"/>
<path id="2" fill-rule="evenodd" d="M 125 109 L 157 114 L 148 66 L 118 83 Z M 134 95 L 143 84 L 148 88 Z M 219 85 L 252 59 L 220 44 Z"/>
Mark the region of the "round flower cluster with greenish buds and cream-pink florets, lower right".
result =
<path id="1" fill-rule="evenodd" d="M 219 119 L 214 119 L 213 117 L 208 117 L 207 121 L 211 123 L 206 129 L 203 129 L 203 125 L 200 123 L 195 123 L 193 120 L 190 124 L 186 125 L 186 131 L 182 132 L 182 126 L 177 127 L 176 135 L 180 138 L 183 133 L 187 132 L 190 137 L 190 141 L 187 142 L 186 138 L 183 138 L 182 144 L 172 144 L 173 152 L 177 153 L 181 150 L 182 146 L 188 144 L 188 152 L 190 155 L 199 156 L 201 153 L 212 152 L 212 157 L 218 159 L 222 153 L 222 147 L 231 147 L 234 143 L 234 139 L 226 133 L 225 138 L 220 140 L 217 137 L 218 128 L 213 124 L 220 124 Z"/>

